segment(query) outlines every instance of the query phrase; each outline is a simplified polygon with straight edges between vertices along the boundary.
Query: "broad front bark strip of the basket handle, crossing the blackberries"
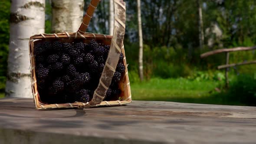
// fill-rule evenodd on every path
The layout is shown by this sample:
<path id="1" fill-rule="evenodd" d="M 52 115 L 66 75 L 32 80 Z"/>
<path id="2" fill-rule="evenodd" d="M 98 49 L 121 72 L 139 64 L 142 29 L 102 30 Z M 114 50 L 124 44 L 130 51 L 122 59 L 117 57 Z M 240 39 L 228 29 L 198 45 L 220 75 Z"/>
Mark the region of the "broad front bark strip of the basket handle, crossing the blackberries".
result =
<path id="1" fill-rule="evenodd" d="M 123 0 L 114 0 L 115 22 L 114 33 L 111 39 L 111 46 L 108 52 L 108 58 L 105 62 L 102 75 L 99 79 L 98 87 L 95 89 L 93 98 L 87 105 L 81 107 L 92 107 L 100 104 L 105 98 L 106 92 L 111 84 L 112 77 L 115 73 L 116 66 L 119 61 L 121 50 L 123 49 L 123 41 L 125 37 L 125 2 Z M 108 102 L 106 102 L 108 104 Z"/>

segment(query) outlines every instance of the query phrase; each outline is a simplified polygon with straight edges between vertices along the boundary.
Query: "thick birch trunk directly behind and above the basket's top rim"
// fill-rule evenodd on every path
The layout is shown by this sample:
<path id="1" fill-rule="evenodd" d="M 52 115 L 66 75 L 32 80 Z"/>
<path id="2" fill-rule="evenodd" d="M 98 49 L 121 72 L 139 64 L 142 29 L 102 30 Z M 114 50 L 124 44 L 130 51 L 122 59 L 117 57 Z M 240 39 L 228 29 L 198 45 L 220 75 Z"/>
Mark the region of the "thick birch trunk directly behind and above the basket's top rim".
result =
<path id="1" fill-rule="evenodd" d="M 52 30 L 76 32 L 82 23 L 84 0 L 53 0 Z"/>

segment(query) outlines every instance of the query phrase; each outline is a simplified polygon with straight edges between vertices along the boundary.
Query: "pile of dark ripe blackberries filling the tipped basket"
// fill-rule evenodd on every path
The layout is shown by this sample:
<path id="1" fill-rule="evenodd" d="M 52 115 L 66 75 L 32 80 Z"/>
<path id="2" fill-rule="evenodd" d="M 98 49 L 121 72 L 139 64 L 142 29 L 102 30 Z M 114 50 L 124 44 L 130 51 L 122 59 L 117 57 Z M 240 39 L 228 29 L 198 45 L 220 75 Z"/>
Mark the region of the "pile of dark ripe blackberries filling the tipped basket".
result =
<path id="1" fill-rule="evenodd" d="M 40 100 L 48 104 L 88 102 L 98 86 L 109 46 L 89 43 L 41 42 L 34 46 L 36 81 Z M 105 101 L 118 100 L 118 83 L 125 72 L 121 53 Z"/>

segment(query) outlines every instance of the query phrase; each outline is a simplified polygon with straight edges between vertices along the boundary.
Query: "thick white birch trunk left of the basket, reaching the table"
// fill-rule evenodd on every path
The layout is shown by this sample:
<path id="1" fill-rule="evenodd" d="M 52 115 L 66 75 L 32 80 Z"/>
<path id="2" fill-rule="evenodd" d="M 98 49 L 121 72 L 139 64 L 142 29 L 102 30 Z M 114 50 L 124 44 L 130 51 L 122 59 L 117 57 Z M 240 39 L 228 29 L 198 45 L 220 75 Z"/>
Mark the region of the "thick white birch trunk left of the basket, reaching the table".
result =
<path id="1" fill-rule="evenodd" d="M 12 0 L 6 96 L 32 98 L 29 39 L 44 33 L 45 0 Z"/>

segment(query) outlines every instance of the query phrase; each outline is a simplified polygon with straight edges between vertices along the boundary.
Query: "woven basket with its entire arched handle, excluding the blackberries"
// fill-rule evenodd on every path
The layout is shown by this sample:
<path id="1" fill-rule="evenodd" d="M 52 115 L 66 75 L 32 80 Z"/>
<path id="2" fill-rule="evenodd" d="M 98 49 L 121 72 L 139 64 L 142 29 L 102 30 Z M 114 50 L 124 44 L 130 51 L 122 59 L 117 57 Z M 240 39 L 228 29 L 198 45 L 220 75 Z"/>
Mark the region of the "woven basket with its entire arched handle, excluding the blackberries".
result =
<path id="1" fill-rule="evenodd" d="M 36 109 L 48 109 L 48 108 L 89 108 L 94 106 L 114 106 L 125 105 L 131 102 L 131 90 L 130 82 L 128 78 L 127 64 L 125 59 L 125 49 L 123 46 L 123 38 L 125 35 L 125 2 L 123 0 L 114 0 L 115 6 L 115 24 L 113 36 L 95 33 L 85 33 L 89 22 L 92 18 L 95 8 L 100 0 L 91 0 L 91 3 L 85 13 L 82 24 L 77 32 L 60 32 L 53 34 L 36 34 L 30 37 L 29 52 L 30 52 L 30 64 L 31 64 L 31 85 L 33 92 L 33 100 Z M 89 43 L 91 39 L 95 39 L 98 43 L 110 45 L 110 51 L 105 63 L 104 70 L 99 80 L 98 88 L 96 88 L 93 98 L 87 103 L 75 102 L 65 104 L 46 104 L 40 100 L 40 93 L 37 90 L 36 82 L 36 61 L 34 54 L 34 45 L 36 43 L 42 43 L 45 41 L 53 41 L 58 39 L 60 42 L 73 42 L 75 39 L 80 39 L 84 43 Z M 120 53 L 124 55 L 125 75 L 119 82 L 119 88 L 121 88 L 121 94 L 117 101 L 103 101 L 105 93 L 111 83 L 111 79 L 114 75 L 116 65 Z"/>

